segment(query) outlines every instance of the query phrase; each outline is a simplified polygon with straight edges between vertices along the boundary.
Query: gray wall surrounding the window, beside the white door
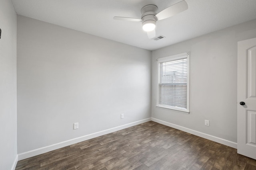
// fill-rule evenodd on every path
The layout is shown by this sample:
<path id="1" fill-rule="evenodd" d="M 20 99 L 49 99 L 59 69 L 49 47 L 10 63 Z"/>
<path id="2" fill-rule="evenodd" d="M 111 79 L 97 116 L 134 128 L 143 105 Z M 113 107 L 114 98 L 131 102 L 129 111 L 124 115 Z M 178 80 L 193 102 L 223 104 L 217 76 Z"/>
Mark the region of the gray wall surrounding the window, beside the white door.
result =
<path id="1" fill-rule="evenodd" d="M 152 51 L 152 117 L 237 142 L 237 41 L 254 37 L 256 20 Z M 187 51 L 190 114 L 156 108 L 156 59 Z"/>

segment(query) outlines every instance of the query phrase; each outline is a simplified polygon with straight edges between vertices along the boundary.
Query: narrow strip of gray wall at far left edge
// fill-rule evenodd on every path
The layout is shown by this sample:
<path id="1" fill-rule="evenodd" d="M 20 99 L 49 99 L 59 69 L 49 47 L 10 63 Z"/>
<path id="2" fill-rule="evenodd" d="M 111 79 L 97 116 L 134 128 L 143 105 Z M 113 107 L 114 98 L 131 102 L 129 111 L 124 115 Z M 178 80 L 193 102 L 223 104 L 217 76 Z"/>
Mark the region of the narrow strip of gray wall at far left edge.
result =
<path id="1" fill-rule="evenodd" d="M 17 156 L 17 16 L 10 0 L 1 0 L 0 28 L 0 169 L 10 170 Z"/>

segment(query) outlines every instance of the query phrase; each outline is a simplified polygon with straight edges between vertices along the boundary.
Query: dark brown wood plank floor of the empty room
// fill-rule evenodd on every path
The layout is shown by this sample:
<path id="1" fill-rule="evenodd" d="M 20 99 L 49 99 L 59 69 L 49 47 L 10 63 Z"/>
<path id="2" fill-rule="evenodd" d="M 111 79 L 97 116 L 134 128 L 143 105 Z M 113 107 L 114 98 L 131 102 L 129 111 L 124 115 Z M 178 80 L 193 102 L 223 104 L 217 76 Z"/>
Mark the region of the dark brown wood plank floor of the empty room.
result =
<path id="1" fill-rule="evenodd" d="M 20 160 L 16 170 L 256 170 L 236 152 L 150 121 Z"/>

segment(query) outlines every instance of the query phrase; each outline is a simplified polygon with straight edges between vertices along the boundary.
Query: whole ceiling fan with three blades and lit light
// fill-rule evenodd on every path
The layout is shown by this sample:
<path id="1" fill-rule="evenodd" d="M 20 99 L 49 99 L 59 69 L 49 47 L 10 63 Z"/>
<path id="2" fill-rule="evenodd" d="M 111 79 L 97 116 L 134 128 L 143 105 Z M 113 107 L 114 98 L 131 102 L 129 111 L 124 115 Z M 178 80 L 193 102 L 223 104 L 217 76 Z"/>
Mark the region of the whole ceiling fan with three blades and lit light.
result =
<path id="1" fill-rule="evenodd" d="M 148 38 L 152 39 L 156 36 L 156 21 L 169 18 L 187 9 L 188 4 L 184 0 L 169 6 L 159 13 L 157 13 L 157 6 L 146 5 L 141 9 L 141 19 L 115 16 L 114 20 L 141 21 L 143 30 L 147 32 Z"/>

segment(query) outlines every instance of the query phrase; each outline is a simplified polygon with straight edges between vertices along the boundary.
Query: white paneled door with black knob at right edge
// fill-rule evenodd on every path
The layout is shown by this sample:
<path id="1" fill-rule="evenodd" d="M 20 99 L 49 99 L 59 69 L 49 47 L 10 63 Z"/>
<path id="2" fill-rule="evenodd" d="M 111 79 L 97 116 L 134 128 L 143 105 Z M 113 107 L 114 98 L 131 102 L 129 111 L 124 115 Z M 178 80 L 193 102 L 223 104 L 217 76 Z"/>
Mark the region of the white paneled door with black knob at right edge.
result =
<path id="1" fill-rule="evenodd" d="M 256 38 L 238 42 L 237 100 L 237 152 L 256 159 Z"/>

